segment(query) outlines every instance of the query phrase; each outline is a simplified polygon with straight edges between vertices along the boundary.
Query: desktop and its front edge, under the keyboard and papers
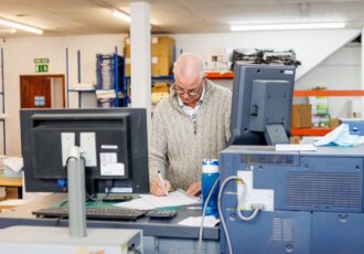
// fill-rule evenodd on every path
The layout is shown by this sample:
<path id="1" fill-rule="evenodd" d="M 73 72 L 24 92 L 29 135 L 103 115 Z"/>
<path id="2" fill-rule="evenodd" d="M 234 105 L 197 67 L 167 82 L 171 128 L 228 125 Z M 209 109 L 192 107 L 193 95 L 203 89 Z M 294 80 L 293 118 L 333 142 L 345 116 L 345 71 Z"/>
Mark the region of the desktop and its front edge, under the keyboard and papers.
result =
<path id="1" fill-rule="evenodd" d="M 0 227 L 7 227 L 11 225 L 47 225 L 47 226 L 67 226 L 68 221 L 66 219 L 36 219 L 32 215 L 32 211 L 49 208 L 55 202 L 60 202 L 65 199 L 66 194 L 49 194 L 39 198 L 30 203 L 20 205 L 15 209 L 0 213 Z M 180 208 L 178 215 L 173 219 L 150 219 L 147 216 L 140 218 L 137 221 L 97 221 L 87 220 L 88 227 L 106 227 L 106 229 L 139 229 L 143 231 L 146 236 L 157 237 L 175 237 L 175 239 L 199 239 L 197 226 L 183 226 L 178 222 L 188 216 L 199 216 L 201 211 L 188 210 Z M 218 241 L 218 227 L 204 227 L 204 240 Z"/>

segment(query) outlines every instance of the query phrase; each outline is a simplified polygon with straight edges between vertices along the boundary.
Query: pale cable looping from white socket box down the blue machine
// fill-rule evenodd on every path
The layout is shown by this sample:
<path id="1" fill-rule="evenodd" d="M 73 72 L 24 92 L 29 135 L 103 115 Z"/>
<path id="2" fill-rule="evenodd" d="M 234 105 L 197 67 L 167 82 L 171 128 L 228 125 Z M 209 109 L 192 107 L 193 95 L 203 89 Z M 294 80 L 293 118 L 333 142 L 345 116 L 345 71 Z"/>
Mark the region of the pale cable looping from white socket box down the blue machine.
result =
<path id="1" fill-rule="evenodd" d="M 231 237 L 228 235 L 228 231 L 227 231 L 227 227 L 226 227 L 226 223 L 225 223 L 225 220 L 224 220 L 224 215 L 223 215 L 223 210 L 222 210 L 222 195 L 223 195 L 223 191 L 224 191 L 224 188 L 225 186 L 227 184 L 227 182 L 229 182 L 231 180 L 239 180 L 242 181 L 242 183 L 245 186 L 245 182 L 242 178 L 239 177 L 228 177 L 226 178 L 223 183 L 221 184 L 220 187 L 220 191 L 218 191 L 218 197 L 217 197 L 217 209 L 218 209 L 218 213 L 221 214 L 221 222 L 222 222 L 222 225 L 223 225 L 223 231 L 224 231 L 224 234 L 225 234 L 225 237 L 226 237 L 226 242 L 227 242 L 227 247 L 228 247 L 228 253 L 229 254 L 233 254 L 233 247 L 232 247 L 232 242 L 231 242 Z M 240 210 L 237 208 L 237 214 L 238 214 L 238 218 L 243 221 L 250 221 L 253 219 L 255 219 L 255 216 L 258 214 L 259 210 L 263 209 L 263 205 L 261 204 L 256 204 L 256 205 L 251 205 L 254 208 L 254 212 L 249 215 L 249 216 L 244 216 L 240 212 Z"/>

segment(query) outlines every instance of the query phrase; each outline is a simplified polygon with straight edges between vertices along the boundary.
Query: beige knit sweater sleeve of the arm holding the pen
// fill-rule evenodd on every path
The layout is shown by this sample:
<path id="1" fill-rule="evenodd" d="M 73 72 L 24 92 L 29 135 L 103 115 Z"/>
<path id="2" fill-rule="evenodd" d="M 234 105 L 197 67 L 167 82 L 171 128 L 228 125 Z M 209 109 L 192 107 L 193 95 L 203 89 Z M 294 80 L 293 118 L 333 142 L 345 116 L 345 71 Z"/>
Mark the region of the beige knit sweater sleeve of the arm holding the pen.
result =
<path id="1" fill-rule="evenodd" d="M 160 103 L 162 104 L 162 103 Z M 152 118 L 152 129 L 149 142 L 149 180 L 152 181 L 157 177 L 157 172 L 161 171 L 165 176 L 168 168 L 167 158 L 167 131 L 163 119 L 163 106 L 158 105 Z"/>

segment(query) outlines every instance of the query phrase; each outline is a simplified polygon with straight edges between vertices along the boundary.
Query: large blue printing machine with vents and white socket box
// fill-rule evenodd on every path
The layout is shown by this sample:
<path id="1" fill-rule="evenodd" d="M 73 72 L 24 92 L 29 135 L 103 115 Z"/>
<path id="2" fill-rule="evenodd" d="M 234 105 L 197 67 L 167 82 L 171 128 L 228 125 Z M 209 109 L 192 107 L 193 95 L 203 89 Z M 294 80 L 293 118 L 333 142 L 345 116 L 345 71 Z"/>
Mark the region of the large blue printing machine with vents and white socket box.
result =
<path id="1" fill-rule="evenodd" d="M 276 151 L 275 147 L 231 146 L 221 154 L 222 215 L 234 253 L 363 254 L 364 146 Z M 242 221 L 237 209 L 251 213 Z M 221 252 L 228 253 L 221 229 Z"/>

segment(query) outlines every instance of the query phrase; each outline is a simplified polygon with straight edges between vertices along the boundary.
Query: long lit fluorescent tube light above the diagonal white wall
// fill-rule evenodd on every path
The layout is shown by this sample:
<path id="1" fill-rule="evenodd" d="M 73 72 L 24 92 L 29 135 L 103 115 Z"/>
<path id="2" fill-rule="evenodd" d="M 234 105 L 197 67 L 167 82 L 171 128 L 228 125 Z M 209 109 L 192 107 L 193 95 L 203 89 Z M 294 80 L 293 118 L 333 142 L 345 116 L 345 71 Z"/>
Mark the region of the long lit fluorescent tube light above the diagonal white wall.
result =
<path id="1" fill-rule="evenodd" d="M 343 29 L 344 22 L 335 23 L 293 23 L 293 24 L 242 24 L 232 25 L 235 31 L 263 31 L 263 30 L 304 30 L 304 29 Z"/>

